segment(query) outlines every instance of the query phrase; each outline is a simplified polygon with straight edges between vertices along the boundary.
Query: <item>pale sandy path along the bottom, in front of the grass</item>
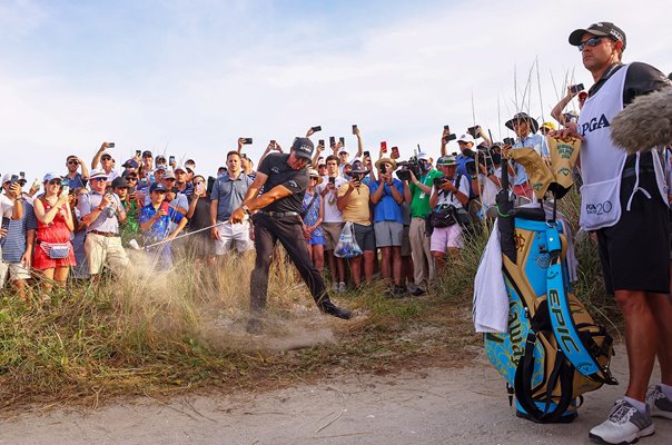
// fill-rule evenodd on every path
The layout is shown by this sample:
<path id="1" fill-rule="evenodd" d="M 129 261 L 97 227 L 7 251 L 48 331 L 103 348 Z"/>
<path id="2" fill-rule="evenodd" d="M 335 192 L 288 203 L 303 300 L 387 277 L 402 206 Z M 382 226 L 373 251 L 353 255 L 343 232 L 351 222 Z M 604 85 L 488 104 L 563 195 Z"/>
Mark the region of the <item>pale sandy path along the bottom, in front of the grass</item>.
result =
<path id="1" fill-rule="evenodd" d="M 625 382 L 622 353 L 613 369 Z M 504 380 L 476 362 L 396 376 L 344 375 L 260 394 L 27 412 L 0 421 L 0 444 L 582 444 L 623 390 L 590 393 L 570 425 L 536 425 L 514 416 Z M 672 444 L 672 421 L 654 422 L 656 434 L 640 443 Z"/>

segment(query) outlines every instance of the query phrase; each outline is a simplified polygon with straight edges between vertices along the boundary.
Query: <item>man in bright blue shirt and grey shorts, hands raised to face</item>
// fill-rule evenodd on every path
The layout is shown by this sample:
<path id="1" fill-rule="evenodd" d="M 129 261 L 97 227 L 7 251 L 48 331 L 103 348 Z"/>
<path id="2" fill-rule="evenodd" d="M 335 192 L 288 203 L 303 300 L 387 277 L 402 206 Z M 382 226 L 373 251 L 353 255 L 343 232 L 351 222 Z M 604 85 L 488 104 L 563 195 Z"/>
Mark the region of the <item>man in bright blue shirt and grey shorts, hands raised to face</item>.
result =
<path id="1" fill-rule="evenodd" d="M 406 294 L 402 277 L 402 237 L 404 234 L 404 182 L 393 177 L 397 162 L 389 158 L 376 161 L 378 181 L 372 180 L 370 201 L 374 204 L 374 231 L 376 247 L 381 249 L 381 273 L 392 280 L 388 296 L 402 297 Z"/>

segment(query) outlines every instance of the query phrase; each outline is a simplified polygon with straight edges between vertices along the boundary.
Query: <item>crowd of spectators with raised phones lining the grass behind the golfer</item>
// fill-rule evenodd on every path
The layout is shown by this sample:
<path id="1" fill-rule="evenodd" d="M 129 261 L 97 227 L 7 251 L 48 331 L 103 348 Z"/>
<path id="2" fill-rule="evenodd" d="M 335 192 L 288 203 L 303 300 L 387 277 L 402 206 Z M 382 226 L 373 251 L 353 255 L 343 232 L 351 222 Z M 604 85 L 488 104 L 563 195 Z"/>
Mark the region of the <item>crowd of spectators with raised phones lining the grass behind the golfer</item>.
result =
<path id="1" fill-rule="evenodd" d="M 446 258 L 459 260 L 465 239 L 496 217 L 502 156 L 517 147 L 549 156 L 543 135 L 555 129 L 553 123 L 545 122 L 537 134 L 537 121 L 523 112 L 506 126 L 516 138 L 503 142 L 493 142 L 478 126 L 459 137 L 446 126 L 437 135 L 436 157 L 415 152 L 405 160 L 386 142 L 374 156 L 365 151 L 357 126 L 355 154 L 343 138 L 332 138 L 328 146 L 320 139 L 306 169 L 300 217 L 303 243 L 332 290 L 382 279 L 389 298 L 426 294 Z M 313 127 L 306 136 L 318 130 Z M 451 140 L 457 152 L 448 152 Z M 224 256 L 254 255 L 249 221 L 229 219 L 255 178 L 255 164 L 244 152 L 251 139 L 237 142 L 224 166 L 200 170 L 213 175 L 196 174 L 191 159 L 177 164 L 172 156 L 149 150 L 137 150 L 117 168 L 112 142 L 100 146 L 90 168 L 81 157 L 67 156 L 65 174 L 48 172 L 27 190 L 23 172 L 6 174 L 2 286 L 26 298 L 26 284 L 33 278 L 46 278 L 38 279 L 43 290 L 69 278 L 96 281 L 106 270 L 113 275 L 129 267 L 129 249 L 144 250 L 156 271 L 171 269 L 175 258 L 186 255 L 214 266 Z M 257 165 L 274 151 L 283 148 L 271 140 Z M 513 164 L 510 174 L 518 200 L 534 199 L 522 166 Z M 435 224 L 441 218 L 443 219 Z M 344 258 L 337 246 L 346 224 L 360 255 Z"/>

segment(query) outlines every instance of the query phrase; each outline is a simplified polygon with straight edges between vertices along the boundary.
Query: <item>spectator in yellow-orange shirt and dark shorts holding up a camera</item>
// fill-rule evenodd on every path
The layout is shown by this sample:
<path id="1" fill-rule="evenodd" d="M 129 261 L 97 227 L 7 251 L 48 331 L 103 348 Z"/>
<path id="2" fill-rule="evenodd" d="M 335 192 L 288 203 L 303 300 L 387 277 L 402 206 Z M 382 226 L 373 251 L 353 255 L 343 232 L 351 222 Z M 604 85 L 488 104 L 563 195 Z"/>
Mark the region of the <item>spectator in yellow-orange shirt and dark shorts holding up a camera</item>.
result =
<path id="1" fill-rule="evenodd" d="M 350 269 L 355 287 L 362 285 L 362 257 L 364 257 L 364 277 L 370 284 L 374 275 L 374 257 L 376 255 L 376 239 L 374 227 L 370 222 L 370 189 L 364 179 L 368 170 L 360 161 L 353 162 L 350 180 L 338 188 L 336 204 L 343 211 L 343 219 L 353 222 L 355 240 L 364 255 L 350 258 Z"/>

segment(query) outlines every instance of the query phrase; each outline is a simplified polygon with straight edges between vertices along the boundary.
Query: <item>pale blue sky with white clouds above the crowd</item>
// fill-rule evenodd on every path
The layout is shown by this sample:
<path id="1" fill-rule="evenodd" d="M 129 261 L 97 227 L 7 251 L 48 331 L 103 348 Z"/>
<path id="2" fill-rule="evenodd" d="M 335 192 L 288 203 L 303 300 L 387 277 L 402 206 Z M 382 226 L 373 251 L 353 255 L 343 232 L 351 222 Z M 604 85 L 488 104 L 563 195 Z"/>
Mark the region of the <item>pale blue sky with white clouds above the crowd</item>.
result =
<path id="1" fill-rule="evenodd" d="M 386 140 L 436 157 L 446 123 L 459 135 L 475 113 L 501 139 L 521 108 L 550 119 L 552 76 L 587 88 L 567 37 L 601 20 L 625 31 L 624 61 L 672 70 L 663 1 L 79 3 L 0 2 L 0 172 L 65 171 L 109 140 L 118 165 L 150 149 L 207 176 L 238 136 L 257 159 L 315 125 L 315 142 L 345 136 L 354 151 L 357 123 L 372 152 Z M 541 99 L 535 69 L 516 107 L 514 70 L 520 102 L 535 59 Z"/>

